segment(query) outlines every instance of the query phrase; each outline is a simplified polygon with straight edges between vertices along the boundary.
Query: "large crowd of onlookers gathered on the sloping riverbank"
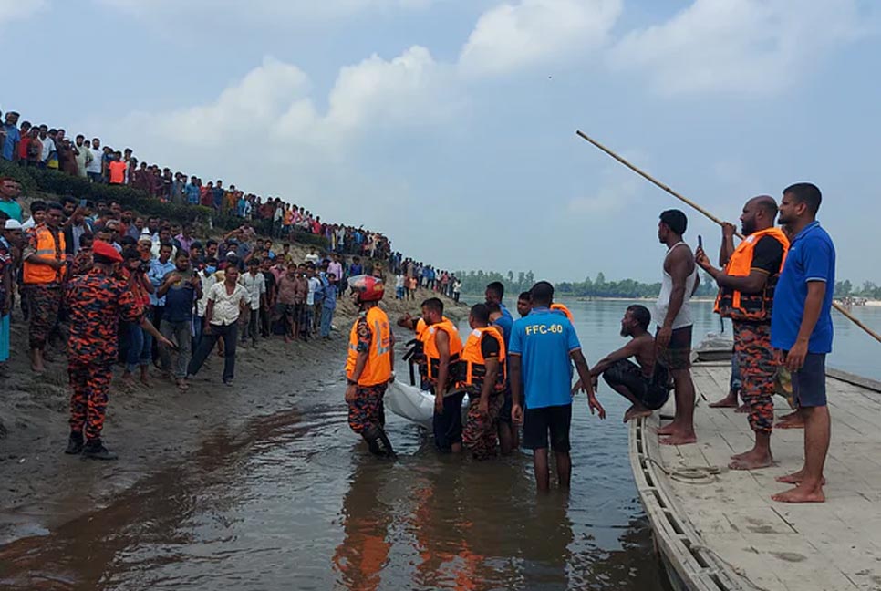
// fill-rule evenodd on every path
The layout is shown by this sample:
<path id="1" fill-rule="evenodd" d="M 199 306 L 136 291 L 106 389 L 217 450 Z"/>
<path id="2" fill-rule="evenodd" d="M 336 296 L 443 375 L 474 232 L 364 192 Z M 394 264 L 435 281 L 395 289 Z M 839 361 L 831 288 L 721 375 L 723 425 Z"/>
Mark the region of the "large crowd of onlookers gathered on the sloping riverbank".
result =
<path id="1" fill-rule="evenodd" d="M 20 308 L 35 372 L 46 369 L 53 350 L 67 354 L 71 453 L 113 455 L 99 435 L 116 364 L 131 385 L 149 386 L 155 367 L 186 390 L 216 347 L 223 382 L 232 384 L 236 347 L 273 336 L 329 338 L 348 277 L 389 272 L 409 291 L 420 286 L 452 295 L 449 272 L 393 252 L 381 233 L 324 223 L 280 198 L 224 188 L 223 181 L 203 184 L 139 163 L 130 149 L 102 147 L 83 134 L 71 141 L 65 130 L 19 126 L 18 119 L 7 112 L 0 127 L 5 161 L 241 218 L 233 231 L 211 237 L 208 228 L 88 194 L 27 202 L 19 181 L 0 177 L 0 377 L 8 375 L 10 320 Z M 326 248 L 296 260 L 291 242 L 305 234 L 324 237 Z"/>

